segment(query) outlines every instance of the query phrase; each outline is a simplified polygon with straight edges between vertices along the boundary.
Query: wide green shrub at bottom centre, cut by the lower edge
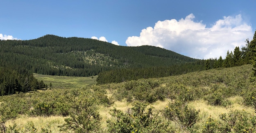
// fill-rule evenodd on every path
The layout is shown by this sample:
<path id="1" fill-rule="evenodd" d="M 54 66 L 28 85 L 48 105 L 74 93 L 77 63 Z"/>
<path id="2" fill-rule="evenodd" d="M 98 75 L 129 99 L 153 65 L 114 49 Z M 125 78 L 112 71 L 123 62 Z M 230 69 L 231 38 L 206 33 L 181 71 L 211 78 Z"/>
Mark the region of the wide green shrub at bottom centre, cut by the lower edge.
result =
<path id="1" fill-rule="evenodd" d="M 126 113 L 114 108 L 107 120 L 110 133 L 173 133 L 170 123 L 164 121 L 154 107 L 135 102 Z"/>

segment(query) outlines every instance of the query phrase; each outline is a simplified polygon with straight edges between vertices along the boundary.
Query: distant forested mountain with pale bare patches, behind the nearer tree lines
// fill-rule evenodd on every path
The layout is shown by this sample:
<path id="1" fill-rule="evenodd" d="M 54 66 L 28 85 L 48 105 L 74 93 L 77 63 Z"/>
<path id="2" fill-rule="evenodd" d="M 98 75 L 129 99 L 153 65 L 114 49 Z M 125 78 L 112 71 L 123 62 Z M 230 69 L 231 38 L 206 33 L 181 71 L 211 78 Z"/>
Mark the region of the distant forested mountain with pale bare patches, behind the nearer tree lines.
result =
<path id="1" fill-rule="evenodd" d="M 46 35 L 0 41 L 0 63 L 38 74 L 92 76 L 116 68 L 147 68 L 198 61 L 153 46 L 125 47 L 89 38 Z"/>

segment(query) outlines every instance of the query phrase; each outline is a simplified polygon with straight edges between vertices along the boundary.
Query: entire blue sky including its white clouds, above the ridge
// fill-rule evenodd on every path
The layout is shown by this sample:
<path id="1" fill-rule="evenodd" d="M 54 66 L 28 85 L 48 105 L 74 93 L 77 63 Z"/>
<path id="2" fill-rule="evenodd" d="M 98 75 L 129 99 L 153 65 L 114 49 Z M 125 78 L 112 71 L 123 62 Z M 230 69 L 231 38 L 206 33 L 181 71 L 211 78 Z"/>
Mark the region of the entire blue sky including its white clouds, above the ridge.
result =
<path id="1" fill-rule="evenodd" d="M 225 57 L 256 29 L 255 0 L 5 0 L 0 39 L 46 34 Z"/>

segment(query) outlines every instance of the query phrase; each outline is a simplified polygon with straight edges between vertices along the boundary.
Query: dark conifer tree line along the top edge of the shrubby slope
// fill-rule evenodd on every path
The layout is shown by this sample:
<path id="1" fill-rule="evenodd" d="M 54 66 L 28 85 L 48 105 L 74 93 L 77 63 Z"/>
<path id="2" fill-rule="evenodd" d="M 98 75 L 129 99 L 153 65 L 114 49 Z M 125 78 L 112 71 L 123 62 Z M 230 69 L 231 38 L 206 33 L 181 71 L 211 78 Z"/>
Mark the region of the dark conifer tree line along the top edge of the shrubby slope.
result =
<path id="1" fill-rule="evenodd" d="M 147 79 L 168 77 L 178 74 L 185 74 L 187 72 L 195 72 L 215 68 L 230 68 L 250 63 L 254 63 L 256 68 L 256 31 L 253 40 L 249 41 L 249 39 L 246 39 L 245 43 L 246 45 L 242 47 L 241 50 L 239 47 L 236 47 L 233 52 L 229 52 L 228 50 L 225 59 L 222 59 L 222 56 L 220 56 L 219 59 L 215 58 L 197 60 L 188 63 L 177 63 L 170 66 L 110 70 L 100 72 L 99 77 L 97 78 L 97 83 L 120 83 L 123 81 L 137 80 L 142 78 Z M 143 50 L 143 52 L 147 51 Z"/>

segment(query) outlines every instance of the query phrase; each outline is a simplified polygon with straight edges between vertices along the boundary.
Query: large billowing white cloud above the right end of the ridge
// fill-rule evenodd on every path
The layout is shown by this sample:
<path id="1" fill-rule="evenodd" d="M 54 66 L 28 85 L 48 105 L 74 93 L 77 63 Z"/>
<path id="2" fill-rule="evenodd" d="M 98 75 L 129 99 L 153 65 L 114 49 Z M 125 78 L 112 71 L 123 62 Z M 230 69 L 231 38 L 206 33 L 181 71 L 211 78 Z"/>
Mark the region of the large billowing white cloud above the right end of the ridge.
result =
<path id="1" fill-rule="evenodd" d="M 252 28 L 242 20 L 242 16 L 224 16 L 211 27 L 195 22 L 189 14 L 185 19 L 164 20 L 147 27 L 140 36 L 130 36 L 128 46 L 153 45 L 197 59 L 226 57 L 227 50 L 245 45 L 246 38 L 252 36 Z"/>

